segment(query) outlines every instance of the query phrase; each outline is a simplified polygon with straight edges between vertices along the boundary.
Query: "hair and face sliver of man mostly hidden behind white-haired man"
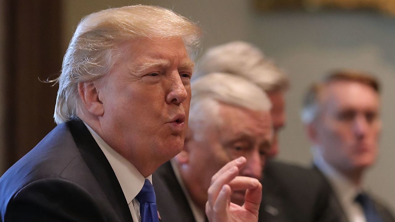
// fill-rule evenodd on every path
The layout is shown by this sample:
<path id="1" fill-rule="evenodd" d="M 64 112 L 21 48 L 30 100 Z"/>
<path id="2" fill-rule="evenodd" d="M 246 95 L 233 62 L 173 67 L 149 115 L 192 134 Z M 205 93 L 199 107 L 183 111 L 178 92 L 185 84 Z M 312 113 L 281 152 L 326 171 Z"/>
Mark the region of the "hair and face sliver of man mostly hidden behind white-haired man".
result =
<path id="1" fill-rule="evenodd" d="M 267 93 L 273 107 L 274 138 L 269 157 L 278 154 L 278 132 L 286 121 L 284 92 L 289 87 L 288 77 L 253 45 L 235 41 L 210 48 L 201 57 L 194 78 L 209 73 L 229 73 L 242 76 Z"/>

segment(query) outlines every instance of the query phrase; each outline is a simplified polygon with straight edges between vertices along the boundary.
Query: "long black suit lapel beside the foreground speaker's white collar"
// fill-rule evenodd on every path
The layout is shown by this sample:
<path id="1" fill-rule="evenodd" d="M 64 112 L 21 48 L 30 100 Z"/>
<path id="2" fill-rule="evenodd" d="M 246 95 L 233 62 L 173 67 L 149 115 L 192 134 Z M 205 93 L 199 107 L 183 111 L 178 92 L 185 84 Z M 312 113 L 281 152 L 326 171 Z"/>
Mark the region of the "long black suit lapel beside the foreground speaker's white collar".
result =
<path id="1" fill-rule="evenodd" d="M 119 219 L 124 222 L 133 221 L 113 168 L 111 168 L 110 163 L 87 127 L 81 120 L 70 121 L 68 126 L 83 159 L 106 194 Z"/>

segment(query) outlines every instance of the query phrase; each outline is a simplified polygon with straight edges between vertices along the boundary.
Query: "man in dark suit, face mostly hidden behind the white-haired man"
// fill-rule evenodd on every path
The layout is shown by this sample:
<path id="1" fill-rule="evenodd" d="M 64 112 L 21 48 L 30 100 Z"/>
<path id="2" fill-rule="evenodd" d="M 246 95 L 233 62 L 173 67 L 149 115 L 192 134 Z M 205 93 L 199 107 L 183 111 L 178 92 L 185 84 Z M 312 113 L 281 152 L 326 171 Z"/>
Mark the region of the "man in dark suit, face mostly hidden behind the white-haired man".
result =
<path id="1" fill-rule="evenodd" d="M 288 77 L 253 45 L 234 41 L 208 49 L 194 79 L 215 72 L 241 76 L 265 91 L 272 103 L 273 142 L 263 170 L 260 221 L 337 221 L 328 211 L 329 187 L 318 173 L 273 159 L 279 151 L 278 132 L 285 125 L 284 93 Z M 261 178 L 261 177 L 260 177 Z"/>

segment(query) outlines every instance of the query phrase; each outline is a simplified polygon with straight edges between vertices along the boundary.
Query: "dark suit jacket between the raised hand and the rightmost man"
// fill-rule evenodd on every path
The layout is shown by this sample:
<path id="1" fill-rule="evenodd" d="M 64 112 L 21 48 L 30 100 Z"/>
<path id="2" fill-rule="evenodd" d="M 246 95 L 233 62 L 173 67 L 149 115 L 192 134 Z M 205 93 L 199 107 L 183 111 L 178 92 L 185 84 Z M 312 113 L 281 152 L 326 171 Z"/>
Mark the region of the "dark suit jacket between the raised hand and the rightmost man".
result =
<path id="1" fill-rule="evenodd" d="M 317 172 L 268 160 L 262 180 L 260 218 L 265 222 L 337 222 L 327 183 Z"/>

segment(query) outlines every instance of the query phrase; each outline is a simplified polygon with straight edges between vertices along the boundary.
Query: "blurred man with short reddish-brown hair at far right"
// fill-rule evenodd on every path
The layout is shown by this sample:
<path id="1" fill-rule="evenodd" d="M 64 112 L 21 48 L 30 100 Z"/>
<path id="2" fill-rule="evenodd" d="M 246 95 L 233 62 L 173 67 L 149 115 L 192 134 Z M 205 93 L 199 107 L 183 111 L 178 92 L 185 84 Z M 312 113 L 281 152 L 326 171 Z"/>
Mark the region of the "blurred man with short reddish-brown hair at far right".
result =
<path id="1" fill-rule="evenodd" d="M 394 222 L 363 186 L 382 126 L 376 78 L 356 70 L 331 73 L 308 90 L 302 120 L 313 144 L 314 168 L 333 189 L 331 210 L 342 222 Z"/>

